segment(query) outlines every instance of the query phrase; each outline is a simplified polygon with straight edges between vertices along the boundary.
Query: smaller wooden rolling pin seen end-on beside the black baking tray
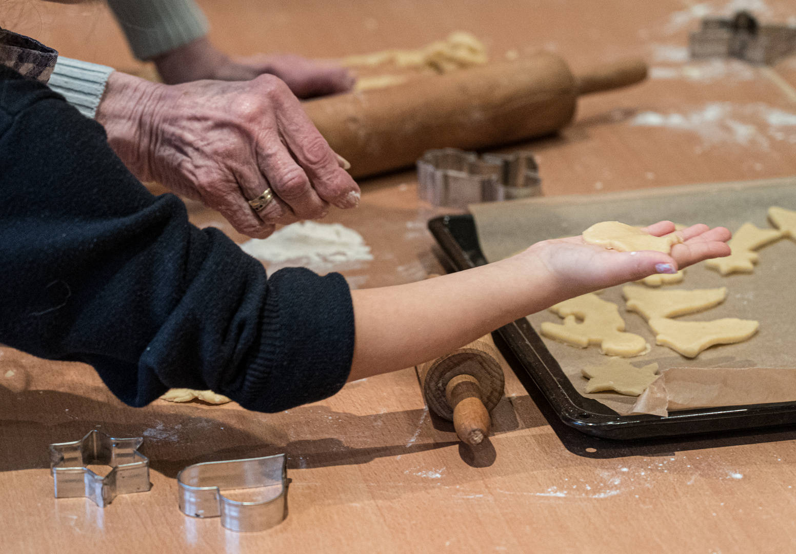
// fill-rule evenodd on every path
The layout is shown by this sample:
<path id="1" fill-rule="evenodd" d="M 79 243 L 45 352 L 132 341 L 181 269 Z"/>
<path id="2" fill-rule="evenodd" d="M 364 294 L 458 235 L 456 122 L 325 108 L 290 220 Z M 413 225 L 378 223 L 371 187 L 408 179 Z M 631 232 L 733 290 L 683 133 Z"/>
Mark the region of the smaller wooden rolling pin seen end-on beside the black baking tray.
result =
<path id="1" fill-rule="evenodd" d="M 499 357 L 492 337 L 486 335 L 417 367 L 426 405 L 453 421 L 458 438 L 467 444 L 481 443 L 490 433 L 490 412 L 505 386 Z"/>

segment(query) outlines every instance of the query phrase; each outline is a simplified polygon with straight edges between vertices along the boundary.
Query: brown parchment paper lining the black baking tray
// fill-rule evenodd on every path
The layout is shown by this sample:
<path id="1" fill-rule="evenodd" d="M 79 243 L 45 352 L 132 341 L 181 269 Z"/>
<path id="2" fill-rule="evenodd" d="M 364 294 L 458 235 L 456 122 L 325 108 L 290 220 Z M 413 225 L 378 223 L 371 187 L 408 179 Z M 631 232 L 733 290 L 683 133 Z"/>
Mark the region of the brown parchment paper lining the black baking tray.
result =
<path id="1" fill-rule="evenodd" d="M 531 198 L 471 205 L 470 212 L 475 218 L 482 252 L 488 261 L 493 262 L 511 256 L 539 240 L 579 235 L 583 229 L 599 221 L 617 220 L 631 225 L 646 225 L 659 220 L 672 220 L 686 225 L 721 225 L 733 232 L 751 221 L 759 228 L 772 228 L 767 220 L 767 209 L 772 205 L 796 209 L 796 178 L 689 185 L 594 196 Z M 683 357 L 665 346 L 655 345 L 655 336 L 644 319 L 638 314 L 626 312 L 621 287 L 604 291 L 601 298 L 618 304 L 619 312 L 626 322 L 626 330 L 645 337 L 652 345 L 650 353 L 630 358 L 631 363 L 641 367 L 657 362 L 661 371 L 669 368 L 796 367 L 796 243 L 782 239 L 757 252 L 759 263 L 751 275 L 724 277 L 704 267 L 704 263 L 698 263 L 685 270 L 682 283 L 664 287 L 667 290 L 728 287 L 727 299 L 720 306 L 677 318 L 681 321 L 741 318 L 760 322 L 758 334 L 748 341 L 736 345 L 716 345 L 693 359 Z M 541 322 L 562 321 L 547 310 L 532 314 L 528 319 L 537 331 Z M 614 392 L 584 392 L 587 380 L 581 375 L 581 369 L 584 365 L 599 365 L 606 359 L 596 346 L 579 349 L 546 337 L 542 337 L 542 340 L 580 394 L 599 400 L 622 415 L 634 412 L 637 400 L 634 396 Z M 702 379 L 708 379 L 711 373 L 713 380 L 710 384 L 722 386 L 724 377 L 721 373 L 708 372 Z M 748 375 L 750 380 L 757 383 L 765 381 L 759 372 L 749 372 Z M 703 384 L 706 386 L 708 383 Z M 777 392 L 777 388 L 781 388 L 781 383 L 772 382 L 769 387 L 763 385 L 762 388 L 750 390 L 748 401 L 744 404 L 771 402 L 766 399 Z M 703 388 L 701 393 L 698 388 L 693 389 L 688 404 L 672 405 L 669 410 L 697 405 L 715 406 L 710 404 L 711 398 L 722 397 L 716 396 L 715 391 L 704 394 L 709 388 Z M 788 390 L 792 394 L 789 393 L 787 400 L 796 400 L 796 388 Z M 778 398 L 782 396 L 779 392 L 777 394 Z M 661 407 L 657 405 L 653 409 L 658 411 L 654 413 L 660 413 Z"/>

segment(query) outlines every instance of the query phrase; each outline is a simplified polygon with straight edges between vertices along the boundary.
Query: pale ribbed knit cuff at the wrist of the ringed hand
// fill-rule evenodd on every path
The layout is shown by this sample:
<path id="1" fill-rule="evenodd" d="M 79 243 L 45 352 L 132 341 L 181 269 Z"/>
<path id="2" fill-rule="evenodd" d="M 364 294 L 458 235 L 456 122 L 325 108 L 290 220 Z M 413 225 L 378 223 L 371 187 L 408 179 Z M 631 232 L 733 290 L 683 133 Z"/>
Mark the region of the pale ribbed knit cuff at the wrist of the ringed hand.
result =
<path id="1" fill-rule="evenodd" d="M 107 78 L 114 71 L 114 68 L 107 65 L 90 64 L 88 61 L 59 56 L 47 84 L 53 91 L 64 96 L 81 114 L 94 119 L 105 92 Z"/>

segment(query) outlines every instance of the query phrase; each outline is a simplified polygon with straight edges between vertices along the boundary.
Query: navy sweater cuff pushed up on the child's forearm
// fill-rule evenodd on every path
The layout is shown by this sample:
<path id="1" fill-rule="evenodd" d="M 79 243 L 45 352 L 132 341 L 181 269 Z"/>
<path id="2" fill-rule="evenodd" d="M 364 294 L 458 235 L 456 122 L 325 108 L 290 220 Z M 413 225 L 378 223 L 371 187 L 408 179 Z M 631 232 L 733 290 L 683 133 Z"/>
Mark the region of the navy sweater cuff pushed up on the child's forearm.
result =
<path id="1" fill-rule="evenodd" d="M 259 344 L 249 351 L 241 406 L 282 412 L 337 393 L 353 359 L 351 291 L 339 273 L 287 267 L 268 279 Z"/>

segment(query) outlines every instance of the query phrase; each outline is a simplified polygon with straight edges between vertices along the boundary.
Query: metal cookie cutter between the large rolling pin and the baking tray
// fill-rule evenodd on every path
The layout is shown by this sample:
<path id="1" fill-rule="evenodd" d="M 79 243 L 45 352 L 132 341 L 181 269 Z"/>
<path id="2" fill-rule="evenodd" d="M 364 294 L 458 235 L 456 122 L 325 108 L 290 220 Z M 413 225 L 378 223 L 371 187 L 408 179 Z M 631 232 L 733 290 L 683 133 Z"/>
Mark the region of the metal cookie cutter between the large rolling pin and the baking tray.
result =
<path id="1" fill-rule="evenodd" d="M 541 194 L 539 166 L 529 151 L 478 158 L 457 148 L 427 150 L 417 161 L 417 181 L 420 200 L 454 208 Z"/>

